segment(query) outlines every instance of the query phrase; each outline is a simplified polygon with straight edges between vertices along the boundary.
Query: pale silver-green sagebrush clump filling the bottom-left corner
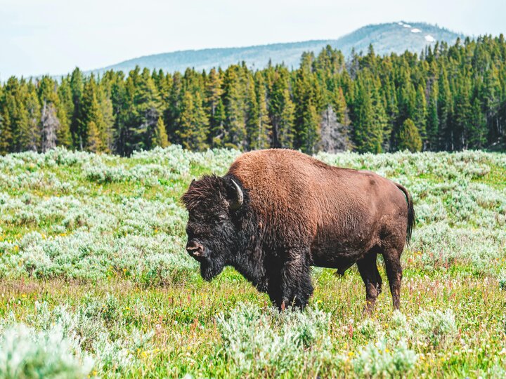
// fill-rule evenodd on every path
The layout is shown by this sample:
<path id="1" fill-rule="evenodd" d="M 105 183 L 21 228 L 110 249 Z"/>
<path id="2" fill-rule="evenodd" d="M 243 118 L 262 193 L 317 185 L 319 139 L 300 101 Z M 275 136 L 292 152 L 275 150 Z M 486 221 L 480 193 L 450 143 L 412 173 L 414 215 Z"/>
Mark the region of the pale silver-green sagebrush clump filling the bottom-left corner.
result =
<path id="1" fill-rule="evenodd" d="M 91 300 L 74 312 L 65 305 L 51 310 L 46 302 L 35 306 L 36 312 L 27 318 L 30 326 L 16 324 L 13 317 L 1 325 L 0 378 L 4 378 L 1 370 L 18 373 L 12 378 L 22 377 L 27 370 L 35 370 L 27 378 L 81 378 L 91 368 L 121 377 L 138 364 L 136 352 L 151 347 L 153 333 L 127 330 L 112 295 L 105 302 Z M 51 371 L 37 366 L 45 361 Z"/>

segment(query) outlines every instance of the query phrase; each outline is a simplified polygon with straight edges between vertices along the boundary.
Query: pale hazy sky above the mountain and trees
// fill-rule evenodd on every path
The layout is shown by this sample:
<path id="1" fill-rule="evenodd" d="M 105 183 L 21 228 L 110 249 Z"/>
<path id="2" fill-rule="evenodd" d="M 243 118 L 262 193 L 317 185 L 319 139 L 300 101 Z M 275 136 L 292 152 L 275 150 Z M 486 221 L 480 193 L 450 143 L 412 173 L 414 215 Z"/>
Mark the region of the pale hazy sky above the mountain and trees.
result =
<path id="1" fill-rule="evenodd" d="M 335 39 L 371 23 L 506 33 L 506 0 L 0 0 L 0 80 L 153 53 Z"/>

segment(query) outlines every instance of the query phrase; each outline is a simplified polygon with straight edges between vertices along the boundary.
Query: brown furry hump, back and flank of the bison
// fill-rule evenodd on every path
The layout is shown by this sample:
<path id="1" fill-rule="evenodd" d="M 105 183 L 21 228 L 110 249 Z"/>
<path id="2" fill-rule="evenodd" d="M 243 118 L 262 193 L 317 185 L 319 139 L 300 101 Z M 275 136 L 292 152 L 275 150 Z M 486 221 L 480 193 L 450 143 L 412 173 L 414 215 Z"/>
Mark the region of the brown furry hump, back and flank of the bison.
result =
<path id="1" fill-rule="evenodd" d="M 407 217 L 406 200 L 394 182 L 294 150 L 247 152 L 228 173 L 247 189 L 249 206 L 271 244 L 311 246 L 316 256 L 368 249 L 377 244 L 382 222 L 403 210 Z"/>

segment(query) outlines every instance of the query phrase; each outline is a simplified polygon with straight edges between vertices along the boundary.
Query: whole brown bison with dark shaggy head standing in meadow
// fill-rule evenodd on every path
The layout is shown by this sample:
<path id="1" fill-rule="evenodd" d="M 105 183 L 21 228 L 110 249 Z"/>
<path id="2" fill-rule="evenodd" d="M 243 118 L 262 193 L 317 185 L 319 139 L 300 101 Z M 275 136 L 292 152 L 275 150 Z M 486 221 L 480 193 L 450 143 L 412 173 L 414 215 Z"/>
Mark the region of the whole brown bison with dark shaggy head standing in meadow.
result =
<path id="1" fill-rule="evenodd" d="M 356 263 L 371 312 L 381 292 L 382 254 L 399 307 L 400 258 L 415 225 L 402 185 L 301 152 L 266 149 L 240 155 L 223 177 L 193 180 L 181 200 L 186 250 L 207 281 L 231 265 L 280 310 L 304 308 L 313 293 L 311 266 L 343 274 Z"/>

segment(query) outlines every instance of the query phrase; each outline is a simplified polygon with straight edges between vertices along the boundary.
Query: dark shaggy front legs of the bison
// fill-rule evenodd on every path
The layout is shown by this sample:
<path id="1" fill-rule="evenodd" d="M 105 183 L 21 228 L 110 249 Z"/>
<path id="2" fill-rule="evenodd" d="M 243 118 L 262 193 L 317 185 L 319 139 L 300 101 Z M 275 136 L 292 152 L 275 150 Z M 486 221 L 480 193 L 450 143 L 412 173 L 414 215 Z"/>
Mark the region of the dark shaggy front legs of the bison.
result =
<path id="1" fill-rule="evenodd" d="M 309 265 L 306 255 L 299 255 L 283 262 L 278 278 L 270 286 L 269 296 L 274 304 L 284 310 L 297 307 L 303 310 L 313 294 Z"/>

